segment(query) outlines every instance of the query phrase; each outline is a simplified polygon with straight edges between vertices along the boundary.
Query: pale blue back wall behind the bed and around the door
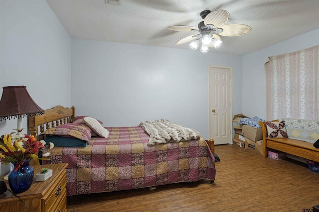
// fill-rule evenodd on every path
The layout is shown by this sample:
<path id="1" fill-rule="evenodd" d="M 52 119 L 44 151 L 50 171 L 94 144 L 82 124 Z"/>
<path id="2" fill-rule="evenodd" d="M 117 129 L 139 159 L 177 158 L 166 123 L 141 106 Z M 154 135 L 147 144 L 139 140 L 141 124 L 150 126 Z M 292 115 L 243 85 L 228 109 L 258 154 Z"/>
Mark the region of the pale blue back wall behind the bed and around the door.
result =
<path id="1" fill-rule="evenodd" d="M 168 119 L 208 139 L 209 65 L 233 67 L 241 112 L 240 56 L 72 39 L 72 105 L 105 127 Z"/>

